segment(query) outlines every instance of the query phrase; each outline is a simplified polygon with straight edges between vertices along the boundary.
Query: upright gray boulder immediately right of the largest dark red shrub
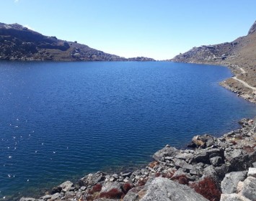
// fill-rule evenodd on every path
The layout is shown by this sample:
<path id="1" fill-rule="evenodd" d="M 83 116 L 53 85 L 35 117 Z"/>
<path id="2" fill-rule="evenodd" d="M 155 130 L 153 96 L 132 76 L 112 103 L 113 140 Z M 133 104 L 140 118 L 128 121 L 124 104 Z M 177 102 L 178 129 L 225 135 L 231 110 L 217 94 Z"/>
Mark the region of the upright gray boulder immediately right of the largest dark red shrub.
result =
<path id="1" fill-rule="evenodd" d="M 247 177 L 247 172 L 230 172 L 225 175 L 221 182 L 221 191 L 224 194 L 237 192 L 238 182 L 244 181 Z"/>

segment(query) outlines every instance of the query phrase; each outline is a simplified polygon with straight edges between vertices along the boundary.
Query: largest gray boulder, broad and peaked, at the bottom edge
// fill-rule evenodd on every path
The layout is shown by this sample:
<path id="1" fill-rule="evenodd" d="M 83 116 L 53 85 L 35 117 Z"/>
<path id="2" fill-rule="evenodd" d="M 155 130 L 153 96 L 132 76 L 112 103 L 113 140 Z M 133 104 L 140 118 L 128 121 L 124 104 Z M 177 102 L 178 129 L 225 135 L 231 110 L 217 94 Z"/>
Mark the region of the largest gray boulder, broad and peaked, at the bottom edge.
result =
<path id="1" fill-rule="evenodd" d="M 129 192 L 128 192 L 129 194 Z M 146 184 L 143 190 L 138 192 L 141 201 L 206 201 L 202 195 L 170 179 L 157 177 L 150 184 Z M 129 195 L 126 195 L 129 196 Z M 126 197 L 125 196 L 125 197 Z M 137 197 L 138 198 L 138 197 Z M 125 200 L 125 198 L 124 198 Z"/>

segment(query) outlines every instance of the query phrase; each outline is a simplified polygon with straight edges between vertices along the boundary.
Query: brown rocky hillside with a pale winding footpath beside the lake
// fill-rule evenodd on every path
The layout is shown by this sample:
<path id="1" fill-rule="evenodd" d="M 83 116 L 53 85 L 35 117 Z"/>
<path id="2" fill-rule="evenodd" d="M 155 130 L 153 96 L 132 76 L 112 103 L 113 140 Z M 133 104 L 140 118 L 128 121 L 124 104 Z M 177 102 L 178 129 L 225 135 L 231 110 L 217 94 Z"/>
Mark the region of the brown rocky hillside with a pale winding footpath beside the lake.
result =
<path id="1" fill-rule="evenodd" d="M 221 85 L 256 103 L 256 21 L 247 36 L 233 42 L 193 47 L 171 61 L 228 66 L 235 76 Z"/>

